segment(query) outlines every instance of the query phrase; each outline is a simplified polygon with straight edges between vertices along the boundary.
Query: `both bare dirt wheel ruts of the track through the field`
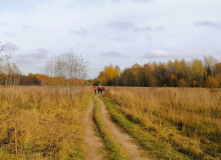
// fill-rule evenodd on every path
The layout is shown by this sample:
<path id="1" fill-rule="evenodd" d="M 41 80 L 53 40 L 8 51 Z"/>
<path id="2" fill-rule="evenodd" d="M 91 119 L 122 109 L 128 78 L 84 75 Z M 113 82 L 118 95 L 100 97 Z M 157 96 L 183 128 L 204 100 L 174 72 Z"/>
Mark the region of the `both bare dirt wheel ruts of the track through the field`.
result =
<path id="1" fill-rule="evenodd" d="M 131 160 L 149 160 L 148 158 L 142 157 L 142 150 L 138 145 L 133 143 L 133 138 L 128 134 L 125 134 L 123 130 L 117 126 L 112 120 L 111 115 L 108 113 L 105 104 L 97 97 L 95 97 L 101 106 L 101 117 L 104 124 L 108 127 L 109 131 L 115 136 L 116 140 L 122 145 L 128 157 Z M 84 118 L 85 134 L 86 134 L 86 145 L 87 145 L 87 159 L 99 160 L 103 159 L 103 155 L 100 151 L 104 148 L 102 139 L 97 136 L 95 128 L 95 122 L 93 121 L 94 103 L 90 99 L 90 105 L 86 111 Z M 105 153 L 105 152 L 103 152 Z"/>

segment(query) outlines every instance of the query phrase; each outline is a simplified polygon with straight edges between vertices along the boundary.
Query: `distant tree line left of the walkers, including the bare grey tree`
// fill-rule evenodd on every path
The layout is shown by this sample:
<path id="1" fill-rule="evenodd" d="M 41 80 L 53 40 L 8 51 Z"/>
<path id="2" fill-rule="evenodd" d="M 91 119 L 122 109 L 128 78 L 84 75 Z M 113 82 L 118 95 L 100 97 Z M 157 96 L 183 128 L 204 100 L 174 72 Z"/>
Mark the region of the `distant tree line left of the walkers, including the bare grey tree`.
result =
<path id="1" fill-rule="evenodd" d="M 0 53 L 4 47 L 0 46 Z M 45 74 L 23 75 L 15 63 L 10 63 L 10 55 L 0 55 L 0 85 L 86 85 L 87 64 L 74 50 L 51 57 L 45 63 Z"/>

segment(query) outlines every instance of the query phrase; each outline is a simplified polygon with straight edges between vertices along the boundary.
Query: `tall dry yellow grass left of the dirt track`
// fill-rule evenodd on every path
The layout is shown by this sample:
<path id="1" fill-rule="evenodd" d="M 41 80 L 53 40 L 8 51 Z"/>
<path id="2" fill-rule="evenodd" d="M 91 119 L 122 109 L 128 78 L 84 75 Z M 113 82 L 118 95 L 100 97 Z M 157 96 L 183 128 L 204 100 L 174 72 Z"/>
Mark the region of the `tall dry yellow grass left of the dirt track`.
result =
<path id="1" fill-rule="evenodd" d="M 88 88 L 0 87 L 0 159 L 81 159 Z"/>

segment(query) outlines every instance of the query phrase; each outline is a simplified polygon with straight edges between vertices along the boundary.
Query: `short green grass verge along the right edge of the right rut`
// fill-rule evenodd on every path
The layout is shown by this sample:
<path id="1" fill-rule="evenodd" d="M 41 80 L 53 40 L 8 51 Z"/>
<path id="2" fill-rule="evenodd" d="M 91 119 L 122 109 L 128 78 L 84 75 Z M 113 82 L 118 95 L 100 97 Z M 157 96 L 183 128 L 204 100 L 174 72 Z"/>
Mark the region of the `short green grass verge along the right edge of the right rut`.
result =
<path id="1" fill-rule="evenodd" d="M 118 109 L 117 105 L 107 99 L 102 98 L 106 104 L 112 119 L 118 123 L 124 130 L 134 137 L 144 150 L 149 151 L 156 159 L 188 160 L 190 158 L 175 151 L 172 146 L 166 142 L 159 141 L 139 124 L 128 120 Z"/>

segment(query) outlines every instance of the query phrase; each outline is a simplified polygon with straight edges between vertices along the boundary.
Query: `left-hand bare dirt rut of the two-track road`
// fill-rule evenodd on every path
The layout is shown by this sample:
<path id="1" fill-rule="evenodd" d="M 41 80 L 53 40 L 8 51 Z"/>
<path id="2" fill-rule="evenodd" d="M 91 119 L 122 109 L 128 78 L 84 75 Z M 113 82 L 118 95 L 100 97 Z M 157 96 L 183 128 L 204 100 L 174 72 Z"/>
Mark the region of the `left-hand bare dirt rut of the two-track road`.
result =
<path id="1" fill-rule="evenodd" d="M 100 160 L 103 158 L 103 154 L 100 153 L 104 145 L 102 139 L 97 136 L 96 125 L 93 121 L 93 110 L 94 103 L 90 98 L 90 105 L 85 113 L 84 126 L 85 126 L 85 141 L 86 141 L 86 151 L 87 151 L 87 160 Z"/>

